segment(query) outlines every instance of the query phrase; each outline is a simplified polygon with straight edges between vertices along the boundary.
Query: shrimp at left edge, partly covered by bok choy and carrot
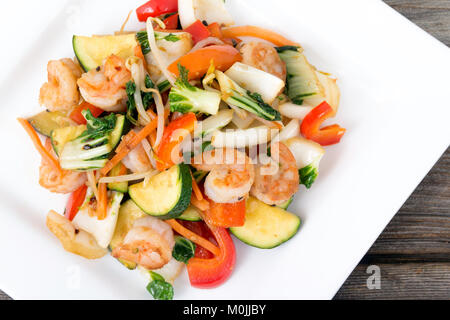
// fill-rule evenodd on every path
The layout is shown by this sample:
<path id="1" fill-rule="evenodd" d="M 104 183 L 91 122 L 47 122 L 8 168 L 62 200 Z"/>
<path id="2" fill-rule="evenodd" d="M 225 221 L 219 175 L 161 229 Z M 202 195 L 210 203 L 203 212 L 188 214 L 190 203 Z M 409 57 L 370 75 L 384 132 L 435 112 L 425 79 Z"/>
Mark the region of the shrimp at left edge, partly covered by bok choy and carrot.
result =
<path id="1" fill-rule="evenodd" d="M 56 158 L 50 139 L 45 141 L 45 148 Z M 39 184 L 50 192 L 72 193 L 85 184 L 86 180 L 84 172 L 62 170 L 60 174 L 50 163 L 42 159 L 39 168 Z"/>

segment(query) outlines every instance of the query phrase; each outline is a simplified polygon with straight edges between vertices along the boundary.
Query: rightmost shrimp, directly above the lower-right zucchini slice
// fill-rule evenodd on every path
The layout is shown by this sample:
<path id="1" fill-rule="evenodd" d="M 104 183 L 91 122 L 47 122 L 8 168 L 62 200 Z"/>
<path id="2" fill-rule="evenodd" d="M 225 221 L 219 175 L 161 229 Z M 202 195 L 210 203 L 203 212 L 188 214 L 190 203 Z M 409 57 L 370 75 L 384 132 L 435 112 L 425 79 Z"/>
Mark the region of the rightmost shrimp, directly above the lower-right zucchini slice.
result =
<path id="1" fill-rule="evenodd" d="M 270 162 L 256 169 L 255 184 L 250 194 L 269 205 L 279 205 L 299 189 L 297 162 L 281 142 L 272 144 L 271 154 Z"/>

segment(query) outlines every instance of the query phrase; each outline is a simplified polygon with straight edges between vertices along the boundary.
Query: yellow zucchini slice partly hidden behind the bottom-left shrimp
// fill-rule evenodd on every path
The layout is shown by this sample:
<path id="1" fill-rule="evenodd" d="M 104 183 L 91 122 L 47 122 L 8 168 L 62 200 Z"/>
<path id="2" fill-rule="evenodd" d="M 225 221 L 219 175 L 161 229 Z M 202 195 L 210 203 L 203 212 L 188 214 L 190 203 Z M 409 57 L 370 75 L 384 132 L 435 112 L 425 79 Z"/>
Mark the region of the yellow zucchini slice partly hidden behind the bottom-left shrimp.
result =
<path id="1" fill-rule="evenodd" d="M 120 206 L 119 217 L 117 218 L 116 229 L 109 243 L 109 250 L 113 251 L 122 244 L 128 231 L 133 227 L 134 221 L 145 217 L 146 214 L 132 201 L 128 200 Z M 134 262 L 118 259 L 125 267 L 134 270 L 137 264 Z"/>

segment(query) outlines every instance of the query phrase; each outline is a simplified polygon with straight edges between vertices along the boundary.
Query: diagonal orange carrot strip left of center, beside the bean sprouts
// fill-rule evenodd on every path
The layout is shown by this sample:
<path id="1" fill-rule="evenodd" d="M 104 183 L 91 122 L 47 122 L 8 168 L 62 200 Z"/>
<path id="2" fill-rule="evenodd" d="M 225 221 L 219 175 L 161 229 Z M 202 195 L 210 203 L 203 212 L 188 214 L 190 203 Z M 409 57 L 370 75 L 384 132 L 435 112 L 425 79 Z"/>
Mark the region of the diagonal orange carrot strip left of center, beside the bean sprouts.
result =
<path id="1" fill-rule="evenodd" d="M 135 133 L 134 131 L 130 131 L 122 140 L 125 142 L 122 146 L 119 146 L 116 150 L 116 155 L 106 163 L 105 167 L 100 171 L 102 176 L 106 176 L 109 171 L 112 170 L 123 158 L 127 156 L 134 148 L 136 148 L 142 140 L 147 138 L 147 136 L 156 130 L 158 126 L 158 117 L 153 119 L 149 124 L 147 124 L 139 133 Z M 128 138 L 128 135 L 131 136 L 131 139 Z M 122 143 L 121 143 L 122 144 Z"/>

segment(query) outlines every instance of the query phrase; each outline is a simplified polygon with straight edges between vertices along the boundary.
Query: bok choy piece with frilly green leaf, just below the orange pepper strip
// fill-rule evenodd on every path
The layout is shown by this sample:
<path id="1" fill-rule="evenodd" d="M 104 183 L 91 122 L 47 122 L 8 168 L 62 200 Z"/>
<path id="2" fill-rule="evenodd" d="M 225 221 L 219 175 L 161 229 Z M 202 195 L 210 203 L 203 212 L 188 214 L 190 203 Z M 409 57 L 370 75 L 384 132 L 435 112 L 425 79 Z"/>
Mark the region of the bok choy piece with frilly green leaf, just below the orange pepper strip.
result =
<path id="1" fill-rule="evenodd" d="M 189 71 L 181 64 L 178 64 L 178 70 L 180 77 L 169 93 L 170 111 L 217 114 L 220 94 L 194 87 L 188 81 Z"/>

